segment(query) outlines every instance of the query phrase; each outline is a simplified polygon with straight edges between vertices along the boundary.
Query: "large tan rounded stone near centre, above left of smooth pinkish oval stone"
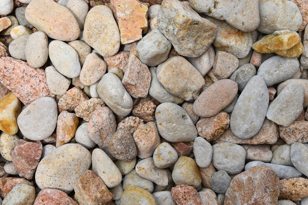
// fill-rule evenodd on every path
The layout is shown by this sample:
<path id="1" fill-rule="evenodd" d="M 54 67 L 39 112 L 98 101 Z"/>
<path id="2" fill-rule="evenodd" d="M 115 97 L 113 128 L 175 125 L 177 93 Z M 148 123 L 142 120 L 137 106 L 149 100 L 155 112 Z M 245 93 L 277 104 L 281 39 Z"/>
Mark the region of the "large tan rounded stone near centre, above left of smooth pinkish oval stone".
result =
<path id="1" fill-rule="evenodd" d="M 171 57 L 158 65 L 156 74 L 158 81 L 169 93 L 185 101 L 195 100 L 205 85 L 201 73 L 180 56 Z"/>

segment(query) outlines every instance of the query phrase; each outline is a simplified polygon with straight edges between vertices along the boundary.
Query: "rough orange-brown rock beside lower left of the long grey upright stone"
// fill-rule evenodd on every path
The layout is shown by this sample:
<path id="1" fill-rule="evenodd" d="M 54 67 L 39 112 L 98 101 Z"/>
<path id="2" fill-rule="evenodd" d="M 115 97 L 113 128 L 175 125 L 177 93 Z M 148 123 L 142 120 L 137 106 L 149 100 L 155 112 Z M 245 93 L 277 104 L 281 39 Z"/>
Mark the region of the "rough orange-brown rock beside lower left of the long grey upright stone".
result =
<path id="1" fill-rule="evenodd" d="M 217 115 L 209 118 L 201 118 L 197 124 L 198 134 L 206 141 L 216 140 L 229 128 L 230 116 L 226 112 L 219 112 Z"/>

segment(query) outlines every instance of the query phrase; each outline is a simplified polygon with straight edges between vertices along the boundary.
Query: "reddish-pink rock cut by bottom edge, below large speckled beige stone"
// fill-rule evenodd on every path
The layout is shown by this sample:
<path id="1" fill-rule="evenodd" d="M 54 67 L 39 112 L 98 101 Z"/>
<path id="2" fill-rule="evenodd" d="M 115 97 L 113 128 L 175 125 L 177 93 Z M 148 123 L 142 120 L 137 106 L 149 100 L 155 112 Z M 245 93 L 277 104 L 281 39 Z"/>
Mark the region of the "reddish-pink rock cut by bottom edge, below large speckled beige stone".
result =
<path id="1" fill-rule="evenodd" d="M 58 189 L 45 188 L 42 189 L 33 205 L 50 205 L 50 204 L 59 204 L 59 205 L 78 205 L 69 197 L 65 192 Z"/>

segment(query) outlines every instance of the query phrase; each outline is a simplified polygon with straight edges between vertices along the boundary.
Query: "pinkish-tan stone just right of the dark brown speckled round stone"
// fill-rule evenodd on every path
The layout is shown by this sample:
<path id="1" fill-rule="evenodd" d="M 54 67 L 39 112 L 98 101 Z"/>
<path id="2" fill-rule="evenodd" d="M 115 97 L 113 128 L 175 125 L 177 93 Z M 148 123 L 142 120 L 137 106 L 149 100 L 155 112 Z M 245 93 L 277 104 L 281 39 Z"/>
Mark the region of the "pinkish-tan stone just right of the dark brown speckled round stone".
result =
<path id="1" fill-rule="evenodd" d="M 160 144 L 160 136 L 154 122 L 140 124 L 133 134 L 137 147 L 137 156 L 141 159 L 151 157 Z"/>

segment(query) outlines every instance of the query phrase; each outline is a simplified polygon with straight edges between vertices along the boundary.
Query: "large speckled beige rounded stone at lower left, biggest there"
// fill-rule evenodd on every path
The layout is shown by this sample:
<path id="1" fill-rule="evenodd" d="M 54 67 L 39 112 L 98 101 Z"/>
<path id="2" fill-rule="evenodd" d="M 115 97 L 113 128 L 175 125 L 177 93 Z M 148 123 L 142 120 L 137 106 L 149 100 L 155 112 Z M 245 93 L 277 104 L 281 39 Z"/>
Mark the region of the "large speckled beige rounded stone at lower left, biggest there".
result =
<path id="1" fill-rule="evenodd" d="M 64 144 L 39 162 L 35 182 L 40 189 L 48 187 L 70 193 L 90 165 L 91 154 L 86 148 L 80 144 Z"/>

